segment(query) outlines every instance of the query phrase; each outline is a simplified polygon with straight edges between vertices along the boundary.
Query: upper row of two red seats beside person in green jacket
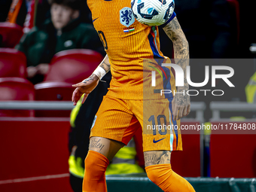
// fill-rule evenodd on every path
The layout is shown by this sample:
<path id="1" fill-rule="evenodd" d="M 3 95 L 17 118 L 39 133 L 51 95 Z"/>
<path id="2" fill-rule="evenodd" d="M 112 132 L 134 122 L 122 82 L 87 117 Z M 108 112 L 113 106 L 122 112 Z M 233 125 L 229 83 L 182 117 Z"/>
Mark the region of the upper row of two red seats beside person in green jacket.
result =
<path id="1" fill-rule="evenodd" d="M 71 84 L 87 78 L 102 55 L 94 50 L 74 49 L 56 53 L 44 81 L 62 81 Z M 26 56 L 15 49 L 0 48 L 0 78 L 26 78 Z"/>

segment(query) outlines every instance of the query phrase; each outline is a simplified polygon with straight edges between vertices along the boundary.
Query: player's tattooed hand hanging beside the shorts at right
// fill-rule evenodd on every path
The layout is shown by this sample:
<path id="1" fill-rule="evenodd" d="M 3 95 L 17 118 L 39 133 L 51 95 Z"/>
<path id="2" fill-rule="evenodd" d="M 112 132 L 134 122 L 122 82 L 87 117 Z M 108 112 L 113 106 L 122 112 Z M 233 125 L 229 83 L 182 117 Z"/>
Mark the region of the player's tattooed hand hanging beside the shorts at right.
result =
<path id="1" fill-rule="evenodd" d="M 187 91 L 182 87 L 178 88 L 177 92 L 172 99 L 173 120 L 179 120 L 190 113 L 190 96 L 187 95 Z"/>

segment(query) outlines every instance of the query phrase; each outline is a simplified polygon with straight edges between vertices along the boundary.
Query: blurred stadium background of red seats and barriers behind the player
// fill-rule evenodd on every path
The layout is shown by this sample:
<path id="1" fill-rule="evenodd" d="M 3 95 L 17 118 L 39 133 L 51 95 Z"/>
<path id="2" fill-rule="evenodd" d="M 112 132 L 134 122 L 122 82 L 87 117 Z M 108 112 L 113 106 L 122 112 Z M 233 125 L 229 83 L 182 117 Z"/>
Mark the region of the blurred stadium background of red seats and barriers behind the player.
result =
<path id="1" fill-rule="evenodd" d="M 181 120 L 233 130 L 184 134 L 184 150 L 172 152 L 172 169 L 196 191 L 255 191 L 255 5 L 175 1 L 190 46 L 191 80 L 203 82 L 206 65 L 235 71 L 235 88 L 216 81 L 224 96 L 191 96 L 191 112 Z M 172 41 L 159 31 L 160 49 L 173 58 Z M 104 56 L 86 1 L 0 0 L 0 191 L 81 191 L 90 127 L 111 74 L 75 108 L 72 84 L 90 76 Z M 204 88 L 211 90 L 211 81 Z M 146 178 L 139 131 L 106 175 L 108 191 L 161 191 Z"/>

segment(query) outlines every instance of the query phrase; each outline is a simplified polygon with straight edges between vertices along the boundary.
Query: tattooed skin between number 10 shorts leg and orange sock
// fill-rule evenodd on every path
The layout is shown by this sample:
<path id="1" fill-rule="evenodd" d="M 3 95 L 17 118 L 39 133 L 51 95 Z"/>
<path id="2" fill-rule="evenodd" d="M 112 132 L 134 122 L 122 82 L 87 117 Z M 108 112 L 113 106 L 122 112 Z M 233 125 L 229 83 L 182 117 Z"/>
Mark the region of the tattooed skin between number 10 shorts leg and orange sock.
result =
<path id="1" fill-rule="evenodd" d="M 146 151 L 144 153 L 145 166 L 170 163 L 170 151 Z"/>

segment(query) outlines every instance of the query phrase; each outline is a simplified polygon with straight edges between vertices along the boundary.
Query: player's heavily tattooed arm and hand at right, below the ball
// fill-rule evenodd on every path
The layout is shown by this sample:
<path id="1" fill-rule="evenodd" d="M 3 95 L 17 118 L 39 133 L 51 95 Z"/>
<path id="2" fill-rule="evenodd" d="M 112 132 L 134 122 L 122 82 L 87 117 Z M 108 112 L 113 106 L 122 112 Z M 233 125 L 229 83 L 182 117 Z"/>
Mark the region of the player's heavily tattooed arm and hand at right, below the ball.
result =
<path id="1" fill-rule="evenodd" d="M 172 113 L 174 120 L 179 120 L 181 117 L 190 113 L 190 96 L 186 94 L 189 89 L 187 84 L 187 70 L 189 65 L 189 48 L 187 38 L 178 23 L 177 17 L 163 27 L 166 35 L 172 40 L 174 49 L 175 63 L 184 71 L 184 87 L 178 87 L 178 90 L 172 100 Z"/>

